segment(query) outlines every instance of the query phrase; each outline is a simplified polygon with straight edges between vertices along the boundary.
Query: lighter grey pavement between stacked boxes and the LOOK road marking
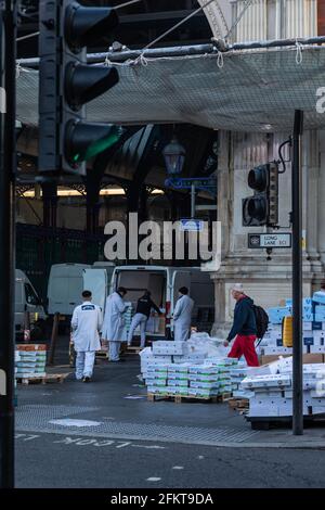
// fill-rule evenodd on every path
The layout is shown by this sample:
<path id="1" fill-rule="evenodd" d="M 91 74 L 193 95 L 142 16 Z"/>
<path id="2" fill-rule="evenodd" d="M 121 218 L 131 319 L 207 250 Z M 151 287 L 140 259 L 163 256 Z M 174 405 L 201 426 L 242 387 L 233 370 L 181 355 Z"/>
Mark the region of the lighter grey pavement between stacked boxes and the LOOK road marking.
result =
<path id="1" fill-rule="evenodd" d="M 147 401 L 138 378 L 139 356 L 128 355 L 126 359 L 123 364 L 100 359 L 93 382 L 84 384 L 75 381 L 73 369 L 58 352 L 60 366 L 50 371 L 70 375 L 63 384 L 20 386 L 17 432 L 91 433 L 96 437 L 224 448 L 325 448 L 324 426 L 308 428 L 302 436 L 294 436 L 290 429 L 253 431 L 226 403 Z"/>

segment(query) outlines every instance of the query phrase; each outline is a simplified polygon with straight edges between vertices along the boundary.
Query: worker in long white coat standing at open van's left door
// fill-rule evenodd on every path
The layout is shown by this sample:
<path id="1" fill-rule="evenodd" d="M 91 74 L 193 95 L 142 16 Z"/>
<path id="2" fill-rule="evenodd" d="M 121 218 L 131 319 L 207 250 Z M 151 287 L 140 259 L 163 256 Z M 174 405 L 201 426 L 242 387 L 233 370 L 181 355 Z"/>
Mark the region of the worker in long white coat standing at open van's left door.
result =
<path id="1" fill-rule="evenodd" d="M 120 344 L 127 341 L 123 319 L 127 307 L 123 302 L 126 294 L 127 290 L 119 286 L 106 301 L 102 337 L 109 343 L 109 361 L 112 362 L 122 361 L 119 357 Z"/>

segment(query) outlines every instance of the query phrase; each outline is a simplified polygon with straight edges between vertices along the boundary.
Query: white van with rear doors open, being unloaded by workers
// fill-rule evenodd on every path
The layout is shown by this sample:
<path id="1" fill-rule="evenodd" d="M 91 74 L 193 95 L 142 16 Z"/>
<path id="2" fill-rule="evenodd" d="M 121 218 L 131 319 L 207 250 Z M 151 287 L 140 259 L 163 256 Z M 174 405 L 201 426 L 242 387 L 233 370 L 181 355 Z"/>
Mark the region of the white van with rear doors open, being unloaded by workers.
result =
<path id="1" fill-rule="evenodd" d="M 104 270 L 96 269 L 96 273 L 83 271 L 83 285 L 93 293 L 93 303 L 105 307 L 107 294 L 118 286 L 128 291 L 126 299 L 135 308 L 139 297 L 145 289 L 152 293 L 152 299 L 164 310 L 164 317 L 148 322 L 148 332 L 154 337 L 172 337 L 172 314 L 179 297 L 179 289 L 187 286 L 190 295 L 195 302 L 193 310 L 193 326 L 199 330 L 209 331 L 214 319 L 214 285 L 207 272 L 200 268 L 168 267 L 168 266 L 117 266 L 107 280 Z M 90 288 L 92 278 L 93 286 Z"/>

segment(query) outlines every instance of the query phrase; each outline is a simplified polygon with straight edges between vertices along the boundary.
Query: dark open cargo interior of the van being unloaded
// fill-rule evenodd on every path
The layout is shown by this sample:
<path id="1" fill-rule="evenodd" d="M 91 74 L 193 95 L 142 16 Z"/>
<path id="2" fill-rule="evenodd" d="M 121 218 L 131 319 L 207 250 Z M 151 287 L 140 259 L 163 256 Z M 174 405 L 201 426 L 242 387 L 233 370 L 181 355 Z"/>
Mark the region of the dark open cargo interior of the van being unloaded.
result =
<path id="1" fill-rule="evenodd" d="M 116 288 L 125 286 L 128 291 L 126 301 L 135 303 L 147 289 L 152 299 L 159 307 L 165 307 L 166 273 L 165 271 L 126 270 L 118 271 Z"/>

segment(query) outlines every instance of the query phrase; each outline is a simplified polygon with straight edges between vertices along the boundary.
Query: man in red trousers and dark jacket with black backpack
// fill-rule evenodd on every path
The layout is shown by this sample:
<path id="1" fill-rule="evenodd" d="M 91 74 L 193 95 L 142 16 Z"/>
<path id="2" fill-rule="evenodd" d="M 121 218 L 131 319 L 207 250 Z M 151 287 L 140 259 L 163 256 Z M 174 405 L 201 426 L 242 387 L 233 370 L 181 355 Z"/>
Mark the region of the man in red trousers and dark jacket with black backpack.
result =
<path id="1" fill-rule="evenodd" d="M 235 283 L 232 296 L 236 301 L 234 323 L 224 345 L 227 346 L 234 337 L 236 339 L 227 357 L 239 359 L 244 355 L 248 367 L 259 367 L 255 349 L 257 326 L 253 301 L 245 295 L 242 283 Z"/>

